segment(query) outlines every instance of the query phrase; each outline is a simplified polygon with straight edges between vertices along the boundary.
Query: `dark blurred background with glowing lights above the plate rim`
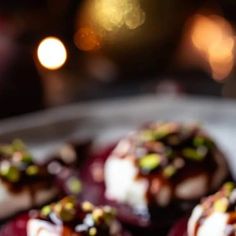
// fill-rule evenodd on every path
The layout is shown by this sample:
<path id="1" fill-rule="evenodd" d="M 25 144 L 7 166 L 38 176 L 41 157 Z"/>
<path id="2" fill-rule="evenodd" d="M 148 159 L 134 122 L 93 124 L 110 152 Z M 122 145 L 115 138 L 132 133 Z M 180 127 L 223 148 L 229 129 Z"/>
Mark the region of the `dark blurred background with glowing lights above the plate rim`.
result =
<path id="1" fill-rule="evenodd" d="M 138 94 L 236 98 L 234 0 L 0 1 L 0 118 Z"/>

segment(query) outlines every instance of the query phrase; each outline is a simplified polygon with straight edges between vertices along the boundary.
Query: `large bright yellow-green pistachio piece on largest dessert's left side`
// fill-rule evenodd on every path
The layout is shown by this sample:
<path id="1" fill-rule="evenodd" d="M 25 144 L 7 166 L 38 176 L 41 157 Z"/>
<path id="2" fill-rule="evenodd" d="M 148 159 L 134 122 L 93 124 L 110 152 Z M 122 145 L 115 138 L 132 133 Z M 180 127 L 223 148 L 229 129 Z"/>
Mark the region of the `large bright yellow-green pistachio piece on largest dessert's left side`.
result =
<path id="1" fill-rule="evenodd" d="M 148 154 L 139 159 L 139 166 L 144 170 L 154 170 L 161 163 L 161 156 L 159 154 Z"/>

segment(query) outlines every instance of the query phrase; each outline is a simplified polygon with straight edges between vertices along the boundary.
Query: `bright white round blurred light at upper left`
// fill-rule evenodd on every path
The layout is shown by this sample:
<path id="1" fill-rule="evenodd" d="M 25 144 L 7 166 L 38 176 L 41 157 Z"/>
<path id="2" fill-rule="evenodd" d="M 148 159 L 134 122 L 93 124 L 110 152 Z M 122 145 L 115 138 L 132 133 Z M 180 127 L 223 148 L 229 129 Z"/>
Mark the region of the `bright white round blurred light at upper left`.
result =
<path id="1" fill-rule="evenodd" d="M 67 52 L 62 41 L 56 37 L 43 39 L 37 50 L 41 65 L 49 70 L 62 67 L 67 59 Z"/>

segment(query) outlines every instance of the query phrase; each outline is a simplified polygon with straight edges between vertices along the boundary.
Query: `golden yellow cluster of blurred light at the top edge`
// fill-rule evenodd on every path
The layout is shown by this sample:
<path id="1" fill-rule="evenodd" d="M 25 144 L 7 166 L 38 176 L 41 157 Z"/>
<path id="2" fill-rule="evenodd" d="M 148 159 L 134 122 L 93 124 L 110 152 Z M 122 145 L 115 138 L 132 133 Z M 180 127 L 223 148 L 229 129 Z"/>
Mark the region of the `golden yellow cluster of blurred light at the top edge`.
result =
<path id="1" fill-rule="evenodd" d="M 107 31 L 122 26 L 136 29 L 145 21 L 139 0 L 94 0 L 92 9 L 94 21 Z"/>

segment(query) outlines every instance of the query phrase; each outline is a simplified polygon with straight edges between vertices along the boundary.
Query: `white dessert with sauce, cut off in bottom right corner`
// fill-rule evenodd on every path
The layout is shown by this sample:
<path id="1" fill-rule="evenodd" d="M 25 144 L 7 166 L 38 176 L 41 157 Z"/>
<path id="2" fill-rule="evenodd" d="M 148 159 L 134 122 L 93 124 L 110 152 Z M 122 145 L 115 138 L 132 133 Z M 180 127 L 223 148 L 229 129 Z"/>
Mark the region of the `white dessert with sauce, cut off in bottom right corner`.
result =
<path id="1" fill-rule="evenodd" d="M 203 199 L 194 208 L 188 221 L 188 236 L 208 235 L 236 235 L 236 186 L 234 183 L 226 183 L 217 193 Z"/>

